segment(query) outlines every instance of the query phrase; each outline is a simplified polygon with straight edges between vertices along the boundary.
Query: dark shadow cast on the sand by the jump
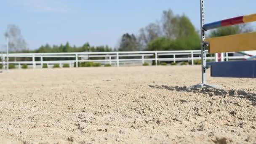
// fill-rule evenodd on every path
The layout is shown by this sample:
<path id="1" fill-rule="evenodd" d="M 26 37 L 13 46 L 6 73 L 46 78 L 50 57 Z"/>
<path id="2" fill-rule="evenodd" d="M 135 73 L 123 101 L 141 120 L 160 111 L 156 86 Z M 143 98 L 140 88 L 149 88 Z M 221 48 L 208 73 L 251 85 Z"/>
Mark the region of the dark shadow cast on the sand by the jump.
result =
<path id="1" fill-rule="evenodd" d="M 192 88 L 192 87 L 171 87 L 167 85 L 149 85 L 150 88 L 157 88 L 157 89 L 166 89 L 169 91 L 185 91 L 185 92 L 193 92 L 193 93 L 203 93 L 208 94 L 209 96 L 233 96 L 233 97 L 239 97 L 242 99 L 248 99 L 249 101 L 255 102 L 256 105 L 256 94 L 255 93 L 249 93 L 246 91 L 240 91 L 240 90 L 223 90 L 223 89 L 217 89 L 217 88 Z"/>

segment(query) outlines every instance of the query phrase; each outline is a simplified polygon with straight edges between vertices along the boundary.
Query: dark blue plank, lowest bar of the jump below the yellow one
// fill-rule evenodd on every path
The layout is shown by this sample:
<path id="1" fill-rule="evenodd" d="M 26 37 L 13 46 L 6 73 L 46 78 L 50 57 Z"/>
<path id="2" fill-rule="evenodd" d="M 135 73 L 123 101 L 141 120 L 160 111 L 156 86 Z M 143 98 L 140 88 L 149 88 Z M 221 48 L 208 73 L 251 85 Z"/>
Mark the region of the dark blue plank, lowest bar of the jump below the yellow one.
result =
<path id="1" fill-rule="evenodd" d="M 208 62 L 211 77 L 256 78 L 256 61 Z"/>

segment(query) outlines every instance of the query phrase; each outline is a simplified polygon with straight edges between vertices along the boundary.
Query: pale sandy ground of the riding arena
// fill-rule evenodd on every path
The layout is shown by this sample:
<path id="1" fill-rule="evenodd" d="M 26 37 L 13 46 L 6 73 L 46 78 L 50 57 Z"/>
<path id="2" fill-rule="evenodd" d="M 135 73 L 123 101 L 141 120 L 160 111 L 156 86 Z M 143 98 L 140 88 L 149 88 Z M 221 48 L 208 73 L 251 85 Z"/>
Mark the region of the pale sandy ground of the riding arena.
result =
<path id="1" fill-rule="evenodd" d="M 256 144 L 256 80 L 186 88 L 200 80 L 200 66 L 10 70 L 0 143 Z"/>

